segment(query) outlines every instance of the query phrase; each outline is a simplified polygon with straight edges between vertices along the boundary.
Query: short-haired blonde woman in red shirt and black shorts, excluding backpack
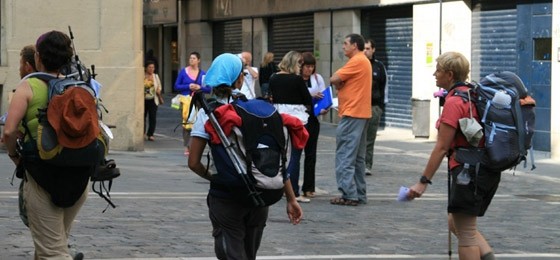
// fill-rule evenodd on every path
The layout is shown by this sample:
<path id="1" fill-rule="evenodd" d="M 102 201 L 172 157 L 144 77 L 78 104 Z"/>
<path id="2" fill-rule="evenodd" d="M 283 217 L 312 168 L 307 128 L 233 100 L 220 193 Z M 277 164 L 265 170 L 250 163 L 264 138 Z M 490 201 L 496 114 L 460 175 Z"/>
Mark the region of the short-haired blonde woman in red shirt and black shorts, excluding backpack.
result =
<path id="1" fill-rule="evenodd" d="M 455 91 L 468 91 L 465 83 L 469 74 L 469 61 L 458 52 L 446 52 L 437 59 L 436 85 L 449 92 L 445 98 L 442 113 L 436 124 L 438 129 L 437 143 L 418 183 L 410 187 L 408 198 L 419 198 L 424 194 L 428 184 L 438 170 L 444 157 L 448 157 L 448 174 L 451 178 L 448 199 L 449 229 L 459 240 L 459 259 L 492 260 L 494 253 L 486 239 L 478 231 L 477 219 L 484 216 L 498 185 L 500 172 L 481 165 L 465 168 L 458 162 L 457 148 L 469 147 L 470 143 L 484 146 L 483 139 L 477 142 L 467 139 L 461 132 L 459 121 L 479 115 L 472 102 L 464 102 L 463 98 L 454 95 Z M 472 116 L 471 116 L 472 113 Z"/>

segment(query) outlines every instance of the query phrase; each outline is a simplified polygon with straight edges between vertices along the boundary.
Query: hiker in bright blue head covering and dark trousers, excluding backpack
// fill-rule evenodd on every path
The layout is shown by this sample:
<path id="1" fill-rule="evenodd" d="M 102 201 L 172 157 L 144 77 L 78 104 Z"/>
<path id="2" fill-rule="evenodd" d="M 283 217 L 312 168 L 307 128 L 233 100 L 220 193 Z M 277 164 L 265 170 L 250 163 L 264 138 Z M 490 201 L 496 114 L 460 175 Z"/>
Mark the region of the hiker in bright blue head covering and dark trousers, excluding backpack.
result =
<path id="1" fill-rule="evenodd" d="M 212 88 L 216 101 L 225 105 L 233 101 L 232 92 L 241 88 L 243 77 L 241 59 L 233 54 L 225 53 L 216 57 L 212 62 L 206 76 L 206 83 Z M 207 204 L 213 227 L 212 236 L 214 236 L 216 257 L 218 259 L 255 259 L 268 218 L 268 206 L 248 206 L 236 200 L 235 194 L 240 192 L 239 189 L 246 191 L 246 187 L 236 188 L 218 183 L 215 178 L 219 178 L 223 173 L 218 171 L 215 175 L 211 169 L 206 168 L 207 164 L 202 162 L 202 157 L 206 145 L 212 140 L 210 132 L 206 129 L 209 129 L 207 127 L 213 128 L 207 125 L 207 121 L 208 115 L 201 110 L 197 114 L 191 132 L 189 168 L 200 177 L 210 181 Z M 220 157 L 213 157 L 213 159 L 223 160 Z M 295 225 L 301 221 L 302 209 L 292 192 L 290 180 L 287 176 L 283 176 L 283 180 L 283 191 L 287 200 L 286 211 L 290 222 Z"/>

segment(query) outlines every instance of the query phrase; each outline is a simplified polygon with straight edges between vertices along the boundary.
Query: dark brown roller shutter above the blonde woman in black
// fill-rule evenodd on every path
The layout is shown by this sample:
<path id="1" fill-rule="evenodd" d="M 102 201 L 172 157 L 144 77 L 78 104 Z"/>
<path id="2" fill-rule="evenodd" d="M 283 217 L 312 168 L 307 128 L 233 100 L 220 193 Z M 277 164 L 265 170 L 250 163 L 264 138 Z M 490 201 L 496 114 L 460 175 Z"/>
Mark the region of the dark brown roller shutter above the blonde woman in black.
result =
<path id="1" fill-rule="evenodd" d="M 268 29 L 269 51 L 274 53 L 274 61 L 280 62 L 289 51 L 313 51 L 313 14 L 271 18 Z"/>

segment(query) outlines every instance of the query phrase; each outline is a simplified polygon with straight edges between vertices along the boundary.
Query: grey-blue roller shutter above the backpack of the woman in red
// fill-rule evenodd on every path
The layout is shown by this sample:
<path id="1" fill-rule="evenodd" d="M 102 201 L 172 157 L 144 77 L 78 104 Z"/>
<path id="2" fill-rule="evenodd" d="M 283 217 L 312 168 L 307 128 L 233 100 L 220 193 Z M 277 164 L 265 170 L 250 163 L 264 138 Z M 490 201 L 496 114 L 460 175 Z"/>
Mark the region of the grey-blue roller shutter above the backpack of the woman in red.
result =
<path id="1" fill-rule="evenodd" d="M 502 70 L 517 73 L 516 42 L 515 2 L 473 3 L 471 80 Z"/>

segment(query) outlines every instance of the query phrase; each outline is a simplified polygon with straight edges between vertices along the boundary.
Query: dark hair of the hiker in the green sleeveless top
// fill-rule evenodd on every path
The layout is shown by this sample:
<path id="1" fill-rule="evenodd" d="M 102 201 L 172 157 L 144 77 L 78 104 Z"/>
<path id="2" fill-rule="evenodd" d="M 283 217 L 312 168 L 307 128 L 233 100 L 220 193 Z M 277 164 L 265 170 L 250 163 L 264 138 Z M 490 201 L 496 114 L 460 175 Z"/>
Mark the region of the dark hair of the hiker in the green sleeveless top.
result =
<path id="1" fill-rule="evenodd" d="M 44 33 L 37 39 L 35 48 L 47 72 L 58 72 L 72 61 L 72 41 L 63 32 Z"/>

